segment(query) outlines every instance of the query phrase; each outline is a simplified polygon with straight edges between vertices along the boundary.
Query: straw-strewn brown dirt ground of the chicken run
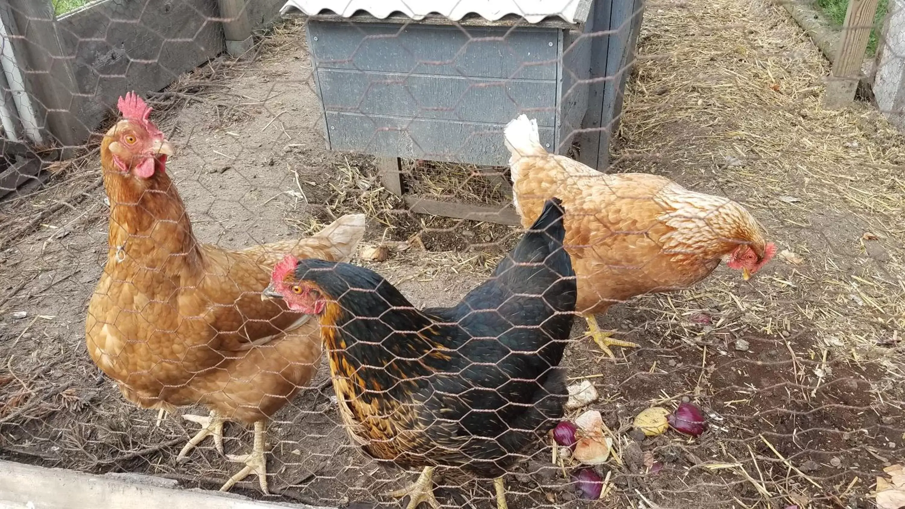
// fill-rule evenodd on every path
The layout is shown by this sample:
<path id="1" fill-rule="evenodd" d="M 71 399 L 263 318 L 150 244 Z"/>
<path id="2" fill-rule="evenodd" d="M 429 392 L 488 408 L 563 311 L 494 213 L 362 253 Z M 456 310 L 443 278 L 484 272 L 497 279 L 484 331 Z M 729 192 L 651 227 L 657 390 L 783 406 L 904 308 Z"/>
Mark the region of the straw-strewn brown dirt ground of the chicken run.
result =
<path id="1" fill-rule="evenodd" d="M 365 242 L 389 243 L 391 257 L 356 262 L 417 306 L 454 303 L 516 232 L 405 212 L 369 157 L 328 152 L 301 33 L 281 25 L 256 60 L 211 62 L 152 96 L 177 146 L 168 171 L 196 236 L 240 247 L 364 211 Z M 510 507 L 873 507 L 874 477 L 905 462 L 903 138 L 867 104 L 820 108 L 826 63 L 772 5 L 653 0 L 639 53 L 614 171 L 729 196 L 786 254 L 748 282 L 720 268 L 690 290 L 614 306 L 601 324 L 642 344 L 616 349 L 615 363 L 576 324 L 565 363 L 576 382 L 595 384 L 591 408 L 614 430 L 618 460 L 598 467 L 612 489 L 603 501 L 576 500 L 538 445 L 508 477 Z M 190 423 L 171 416 L 157 427 L 156 412 L 124 401 L 85 351 L 86 308 L 106 257 L 99 176 L 91 152 L 43 190 L 0 203 L 0 458 L 216 489 L 237 466 L 206 442 L 177 465 Z M 409 184 L 434 186 L 429 175 Z M 313 384 L 326 377 L 322 368 Z M 376 494 L 413 474 L 359 454 L 330 391 L 303 391 L 271 422 L 279 495 L 267 498 L 398 504 Z M 682 399 L 708 413 L 705 435 L 630 436 L 638 411 Z M 227 425 L 226 434 L 227 452 L 249 448 L 248 430 Z M 439 474 L 444 504 L 490 506 L 489 482 Z M 233 491 L 263 498 L 253 478 Z"/>

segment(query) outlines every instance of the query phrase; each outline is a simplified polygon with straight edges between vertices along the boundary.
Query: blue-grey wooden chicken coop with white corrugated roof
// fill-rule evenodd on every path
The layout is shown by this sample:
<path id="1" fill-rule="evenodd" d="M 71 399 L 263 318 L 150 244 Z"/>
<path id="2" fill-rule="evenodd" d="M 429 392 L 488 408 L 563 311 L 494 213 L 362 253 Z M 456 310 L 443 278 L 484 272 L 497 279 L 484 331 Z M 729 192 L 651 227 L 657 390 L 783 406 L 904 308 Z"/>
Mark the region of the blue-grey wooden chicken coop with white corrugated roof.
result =
<path id="1" fill-rule="evenodd" d="M 586 165 L 607 166 L 642 0 L 336 5 L 290 0 L 281 11 L 308 16 L 327 146 L 377 156 L 386 189 L 413 212 L 518 224 L 511 204 L 405 193 L 400 161 L 506 166 L 502 129 L 521 113 L 538 119 L 550 152 L 576 146 Z"/>

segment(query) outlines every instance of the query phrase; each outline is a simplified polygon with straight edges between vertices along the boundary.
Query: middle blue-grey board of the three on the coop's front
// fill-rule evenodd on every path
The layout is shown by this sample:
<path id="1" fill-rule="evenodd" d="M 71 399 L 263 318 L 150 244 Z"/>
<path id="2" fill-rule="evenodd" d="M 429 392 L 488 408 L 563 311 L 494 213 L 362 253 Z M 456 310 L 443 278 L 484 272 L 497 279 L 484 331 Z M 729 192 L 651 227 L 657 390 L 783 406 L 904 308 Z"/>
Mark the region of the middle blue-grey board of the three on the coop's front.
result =
<path id="1" fill-rule="evenodd" d="M 476 80 L 386 72 L 318 69 L 328 111 L 505 124 L 530 110 L 553 127 L 557 84 L 552 80 Z"/>

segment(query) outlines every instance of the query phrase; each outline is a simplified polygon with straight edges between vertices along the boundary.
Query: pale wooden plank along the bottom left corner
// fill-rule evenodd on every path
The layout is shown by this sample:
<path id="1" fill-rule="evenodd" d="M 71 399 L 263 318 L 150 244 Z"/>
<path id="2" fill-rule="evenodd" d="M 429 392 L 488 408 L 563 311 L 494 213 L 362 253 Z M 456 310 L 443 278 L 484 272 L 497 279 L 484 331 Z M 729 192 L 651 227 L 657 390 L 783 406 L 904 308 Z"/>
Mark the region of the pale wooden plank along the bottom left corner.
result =
<path id="1" fill-rule="evenodd" d="M 137 482 L 145 478 L 147 482 Z M 238 495 L 167 487 L 175 481 L 149 476 L 94 476 L 62 468 L 0 461 L 2 509 L 315 509 L 271 504 Z"/>

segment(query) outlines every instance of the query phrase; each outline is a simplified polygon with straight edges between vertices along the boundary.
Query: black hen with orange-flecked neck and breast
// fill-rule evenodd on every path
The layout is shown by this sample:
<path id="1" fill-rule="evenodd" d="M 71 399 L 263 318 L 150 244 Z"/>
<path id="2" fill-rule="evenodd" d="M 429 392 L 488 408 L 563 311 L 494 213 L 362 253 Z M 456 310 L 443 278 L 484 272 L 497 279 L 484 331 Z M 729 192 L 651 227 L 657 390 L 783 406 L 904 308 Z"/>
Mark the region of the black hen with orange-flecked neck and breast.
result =
<path id="1" fill-rule="evenodd" d="M 453 307 L 419 311 L 375 272 L 286 260 L 264 294 L 318 315 L 340 414 L 372 457 L 425 467 L 391 495 L 433 498 L 435 466 L 497 478 L 563 415 L 576 279 L 557 199 L 493 275 Z"/>

